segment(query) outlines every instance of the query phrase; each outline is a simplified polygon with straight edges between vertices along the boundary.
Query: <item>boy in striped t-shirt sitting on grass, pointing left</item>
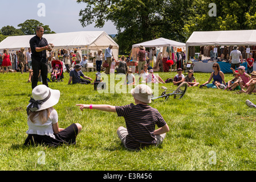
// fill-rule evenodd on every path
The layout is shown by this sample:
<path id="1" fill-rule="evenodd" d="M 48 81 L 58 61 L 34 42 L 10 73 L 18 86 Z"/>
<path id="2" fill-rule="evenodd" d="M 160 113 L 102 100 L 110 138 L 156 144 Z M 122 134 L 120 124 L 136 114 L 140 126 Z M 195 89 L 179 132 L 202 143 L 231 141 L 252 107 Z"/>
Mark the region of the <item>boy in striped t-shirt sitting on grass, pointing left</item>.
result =
<path id="1" fill-rule="evenodd" d="M 148 104 L 151 103 L 152 90 L 148 85 L 140 84 L 131 90 L 135 104 L 125 106 L 85 105 L 77 104 L 80 110 L 96 109 L 116 112 L 124 117 L 127 129 L 120 126 L 117 135 L 125 148 L 139 150 L 147 146 L 159 146 L 169 132 L 169 127 L 159 111 Z M 155 126 L 159 129 L 155 130 Z"/>

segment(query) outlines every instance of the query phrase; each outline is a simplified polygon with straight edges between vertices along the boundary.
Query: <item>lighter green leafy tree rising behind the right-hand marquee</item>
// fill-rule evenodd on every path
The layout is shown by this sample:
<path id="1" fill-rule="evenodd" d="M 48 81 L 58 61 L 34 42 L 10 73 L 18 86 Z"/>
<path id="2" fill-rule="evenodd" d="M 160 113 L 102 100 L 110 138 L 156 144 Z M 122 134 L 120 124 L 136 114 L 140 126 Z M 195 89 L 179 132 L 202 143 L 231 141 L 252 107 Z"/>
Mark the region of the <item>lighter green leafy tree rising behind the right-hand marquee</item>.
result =
<path id="1" fill-rule="evenodd" d="M 186 39 L 193 31 L 250 30 L 256 28 L 256 1 L 216 0 L 216 16 L 209 16 L 210 0 L 194 2 L 195 13 L 185 22 Z"/>

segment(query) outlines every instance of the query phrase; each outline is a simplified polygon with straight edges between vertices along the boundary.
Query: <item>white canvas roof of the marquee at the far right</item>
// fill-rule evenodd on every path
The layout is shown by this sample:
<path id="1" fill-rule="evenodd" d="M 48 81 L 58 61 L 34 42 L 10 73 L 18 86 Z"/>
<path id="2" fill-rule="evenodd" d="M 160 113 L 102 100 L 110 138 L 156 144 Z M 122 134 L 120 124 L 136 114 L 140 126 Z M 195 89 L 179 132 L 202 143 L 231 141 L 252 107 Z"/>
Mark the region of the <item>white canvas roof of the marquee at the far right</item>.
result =
<path id="1" fill-rule="evenodd" d="M 256 30 L 195 31 L 186 41 L 189 46 L 255 46 Z M 188 60 L 188 51 L 186 51 Z"/>

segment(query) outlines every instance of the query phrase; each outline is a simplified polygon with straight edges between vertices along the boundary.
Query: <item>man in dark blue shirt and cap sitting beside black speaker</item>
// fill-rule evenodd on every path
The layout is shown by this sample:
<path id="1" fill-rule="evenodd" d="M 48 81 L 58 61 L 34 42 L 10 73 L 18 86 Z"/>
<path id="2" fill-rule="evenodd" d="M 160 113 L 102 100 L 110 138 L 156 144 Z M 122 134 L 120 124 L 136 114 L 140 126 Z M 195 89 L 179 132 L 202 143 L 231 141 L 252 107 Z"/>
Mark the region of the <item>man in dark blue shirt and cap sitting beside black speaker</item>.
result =
<path id="1" fill-rule="evenodd" d="M 75 65 L 75 69 L 72 69 L 70 71 L 70 80 L 68 80 L 68 84 L 71 84 L 71 81 L 72 81 L 72 84 L 90 84 L 91 81 L 92 81 L 92 78 L 88 77 L 88 76 L 85 76 L 83 74 L 83 72 L 81 71 L 81 65 L 80 64 L 76 64 Z M 83 78 L 80 78 L 80 77 L 83 77 Z M 89 81 L 91 80 L 91 81 Z"/>

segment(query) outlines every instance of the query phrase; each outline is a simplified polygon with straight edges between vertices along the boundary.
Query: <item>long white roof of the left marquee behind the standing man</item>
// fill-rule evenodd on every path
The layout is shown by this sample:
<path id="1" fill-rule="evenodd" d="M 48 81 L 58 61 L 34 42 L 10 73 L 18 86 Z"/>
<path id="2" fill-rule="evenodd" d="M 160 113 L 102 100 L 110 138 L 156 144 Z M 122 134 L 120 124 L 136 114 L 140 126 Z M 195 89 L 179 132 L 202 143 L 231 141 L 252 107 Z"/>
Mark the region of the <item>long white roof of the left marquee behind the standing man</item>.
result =
<path id="1" fill-rule="evenodd" d="M 0 43 L 1 49 L 9 49 L 9 51 L 17 51 L 21 47 L 29 48 L 30 39 L 35 35 L 9 36 Z M 48 43 L 53 43 L 55 49 L 61 48 L 87 48 L 104 49 L 110 44 L 113 49 L 119 49 L 118 44 L 107 35 L 105 31 L 80 31 L 59 34 L 44 34 Z"/>

